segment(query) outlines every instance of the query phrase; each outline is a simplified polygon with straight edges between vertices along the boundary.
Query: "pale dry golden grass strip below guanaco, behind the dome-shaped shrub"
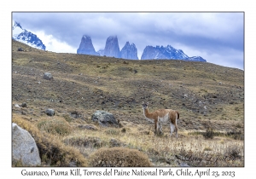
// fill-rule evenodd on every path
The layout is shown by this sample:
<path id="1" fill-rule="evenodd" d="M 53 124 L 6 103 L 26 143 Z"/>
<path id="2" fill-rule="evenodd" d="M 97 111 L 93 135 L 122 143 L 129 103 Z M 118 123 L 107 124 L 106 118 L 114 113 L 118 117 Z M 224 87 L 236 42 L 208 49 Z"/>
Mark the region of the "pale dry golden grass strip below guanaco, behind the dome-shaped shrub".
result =
<path id="1" fill-rule="evenodd" d="M 124 125 L 121 129 L 76 130 L 73 135 L 63 136 L 62 141 L 79 149 L 87 157 L 98 148 L 111 148 L 114 145 L 137 149 L 146 153 L 154 166 L 178 166 L 178 163 L 182 162 L 191 166 L 244 165 L 243 141 L 226 136 L 214 136 L 213 139 L 206 140 L 201 135 L 190 136 L 191 132 L 179 132 L 176 139 L 174 136 L 170 138 L 169 135 L 154 136 L 153 129 L 147 130 L 148 127 L 140 124 L 135 124 L 132 128 L 129 123 Z M 188 156 L 192 159 L 183 161 Z M 200 158 L 201 162 L 195 160 L 196 158 Z"/>

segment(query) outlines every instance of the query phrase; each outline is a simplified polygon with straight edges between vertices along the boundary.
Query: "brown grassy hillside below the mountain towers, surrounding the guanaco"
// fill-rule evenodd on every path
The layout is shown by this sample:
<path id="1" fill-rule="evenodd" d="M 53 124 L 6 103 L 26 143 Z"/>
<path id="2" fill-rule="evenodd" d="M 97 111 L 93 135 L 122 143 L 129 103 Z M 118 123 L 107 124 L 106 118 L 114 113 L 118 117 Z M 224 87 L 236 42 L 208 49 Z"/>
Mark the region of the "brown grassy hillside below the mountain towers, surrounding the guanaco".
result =
<path id="1" fill-rule="evenodd" d="M 177 154 L 176 145 L 192 141 L 201 153 L 226 153 L 224 148 L 235 143 L 242 150 L 243 141 L 226 135 L 241 134 L 241 138 L 244 131 L 244 72 L 239 69 L 192 61 L 129 61 L 58 54 L 16 41 L 12 45 L 12 103 L 27 104 L 13 107 L 13 114 L 37 124 L 49 118 L 44 113 L 46 108 L 55 109 L 54 118 L 64 118 L 73 127 L 69 135 L 58 136 L 63 142 L 96 137 L 102 141 L 100 147 L 109 147 L 114 138 L 123 147 L 147 153 L 154 165 L 177 165 L 176 159 L 168 162 Z M 54 79 L 45 80 L 44 72 L 50 72 Z M 143 101 L 149 102 L 149 111 L 172 108 L 180 113 L 177 141 L 167 137 L 169 125 L 164 126 L 166 136 L 154 136 L 153 124 L 143 117 Z M 113 113 L 123 128 L 97 126 L 90 120 L 96 110 Z M 79 115 L 74 118 L 71 113 Z M 96 125 L 98 130 L 81 130 L 82 124 Z M 213 141 L 201 141 L 201 132 L 207 126 L 218 133 Z M 85 158 L 97 148 L 74 147 Z M 162 162 L 162 158 L 166 160 Z M 243 165 L 242 160 L 236 165 Z"/>

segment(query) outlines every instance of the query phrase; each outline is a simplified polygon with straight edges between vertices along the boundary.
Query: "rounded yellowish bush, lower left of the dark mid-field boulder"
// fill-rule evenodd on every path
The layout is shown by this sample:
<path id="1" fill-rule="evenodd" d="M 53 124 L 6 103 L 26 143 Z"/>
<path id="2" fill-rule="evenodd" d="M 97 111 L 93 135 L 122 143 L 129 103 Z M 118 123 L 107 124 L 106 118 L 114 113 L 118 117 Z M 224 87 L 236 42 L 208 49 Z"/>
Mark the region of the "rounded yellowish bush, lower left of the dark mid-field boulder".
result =
<path id="1" fill-rule="evenodd" d="M 63 118 L 44 118 L 38 121 L 38 129 L 45 130 L 53 135 L 68 135 L 72 131 L 72 127 L 67 124 Z"/>

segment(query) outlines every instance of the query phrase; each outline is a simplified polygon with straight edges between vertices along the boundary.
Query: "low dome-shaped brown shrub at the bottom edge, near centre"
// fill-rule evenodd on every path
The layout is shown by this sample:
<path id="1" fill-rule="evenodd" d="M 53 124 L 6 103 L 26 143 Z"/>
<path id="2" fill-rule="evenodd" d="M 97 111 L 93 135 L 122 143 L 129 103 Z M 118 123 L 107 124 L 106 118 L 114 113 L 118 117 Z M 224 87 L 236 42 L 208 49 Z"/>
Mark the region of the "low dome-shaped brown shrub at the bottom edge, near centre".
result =
<path id="1" fill-rule="evenodd" d="M 148 156 L 136 149 L 124 147 L 101 148 L 90 155 L 90 165 L 96 167 L 152 166 Z"/>

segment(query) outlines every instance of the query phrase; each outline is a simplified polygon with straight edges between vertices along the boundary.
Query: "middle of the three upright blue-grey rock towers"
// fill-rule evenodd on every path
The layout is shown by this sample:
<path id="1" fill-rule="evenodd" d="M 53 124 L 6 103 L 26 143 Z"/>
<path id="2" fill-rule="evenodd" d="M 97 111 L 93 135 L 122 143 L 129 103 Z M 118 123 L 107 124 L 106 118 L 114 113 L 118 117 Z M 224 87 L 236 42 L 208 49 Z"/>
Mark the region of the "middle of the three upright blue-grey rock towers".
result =
<path id="1" fill-rule="evenodd" d="M 108 37 L 104 49 L 104 55 L 120 58 L 119 41 L 116 36 Z"/>

